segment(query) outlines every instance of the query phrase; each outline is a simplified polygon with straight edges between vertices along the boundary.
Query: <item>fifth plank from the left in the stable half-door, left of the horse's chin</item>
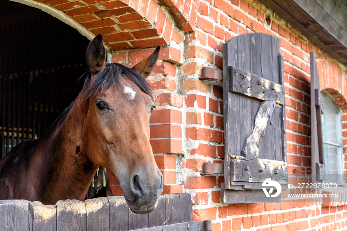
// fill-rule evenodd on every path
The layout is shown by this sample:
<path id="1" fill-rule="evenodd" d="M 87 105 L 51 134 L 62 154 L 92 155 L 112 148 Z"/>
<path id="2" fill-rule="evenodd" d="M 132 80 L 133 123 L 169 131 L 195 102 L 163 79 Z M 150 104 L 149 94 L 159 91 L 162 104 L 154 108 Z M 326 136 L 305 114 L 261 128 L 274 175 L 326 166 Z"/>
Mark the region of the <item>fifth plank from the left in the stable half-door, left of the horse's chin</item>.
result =
<path id="1" fill-rule="evenodd" d="M 123 196 L 109 196 L 110 230 L 129 230 L 129 207 Z"/>

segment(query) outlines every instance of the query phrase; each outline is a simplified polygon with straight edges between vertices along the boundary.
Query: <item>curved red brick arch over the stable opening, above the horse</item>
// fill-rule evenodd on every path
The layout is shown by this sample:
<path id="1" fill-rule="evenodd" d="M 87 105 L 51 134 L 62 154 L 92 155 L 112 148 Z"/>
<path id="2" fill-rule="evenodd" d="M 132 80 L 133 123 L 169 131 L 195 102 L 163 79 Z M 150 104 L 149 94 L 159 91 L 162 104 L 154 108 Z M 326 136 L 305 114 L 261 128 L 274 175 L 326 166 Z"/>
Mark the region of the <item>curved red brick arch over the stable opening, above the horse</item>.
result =
<path id="1" fill-rule="evenodd" d="M 77 29 L 89 40 L 102 33 L 105 45 L 111 50 L 168 45 L 173 33 L 173 23 L 178 23 L 183 31 L 191 31 L 190 24 L 195 23 L 193 18 L 192 23 L 186 20 L 191 5 L 185 6 L 188 13 L 183 16 L 184 7 L 180 7 L 180 4 L 177 7 L 174 0 L 162 2 L 164 7 L 160 7 L 155 0 L 13 1 L 51 14 Z M 170 19 L 165 11 L 174 17 Z"/>

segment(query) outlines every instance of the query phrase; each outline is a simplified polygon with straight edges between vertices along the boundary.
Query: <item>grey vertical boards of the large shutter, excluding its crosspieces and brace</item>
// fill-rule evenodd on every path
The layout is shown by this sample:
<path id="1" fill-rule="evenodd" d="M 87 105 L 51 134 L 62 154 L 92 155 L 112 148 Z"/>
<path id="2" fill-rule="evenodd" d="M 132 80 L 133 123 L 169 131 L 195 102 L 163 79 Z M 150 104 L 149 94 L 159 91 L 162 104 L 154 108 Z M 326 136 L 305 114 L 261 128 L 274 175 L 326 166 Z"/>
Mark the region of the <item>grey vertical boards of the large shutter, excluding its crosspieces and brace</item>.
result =
<path id="1" fill-rule="evenodd" d="M 277 37 L 251 33 L 237 36 L 223 45 L 223 88 L 229 90 L 228 68 L 236 67 L 261 78 L 282 85 L 284 89 L 283 59 Z M 284 93 L 284 90 L 282 90 Z M 238 92 L 239 93 L 239 92 Z M 261 100 L 223 91 L 225 160 L 229 155 L 241 155 L 243 145 L 254 129 L 255 116 Z M 283 94 L 284 103 L 284 94 Z M 264 99 L 264 98 L 263 98 Z M 282 103 L 281 103 L 282 104 Z M 277 105 L 266 125 L 265 136 L 259 143 L 259 158 L 286 161 L 285 106 Z M 231 172 L 225 161 L 224 172 Z M 225 174 L 225 186 L 231 188 L 230 174 Z"/>

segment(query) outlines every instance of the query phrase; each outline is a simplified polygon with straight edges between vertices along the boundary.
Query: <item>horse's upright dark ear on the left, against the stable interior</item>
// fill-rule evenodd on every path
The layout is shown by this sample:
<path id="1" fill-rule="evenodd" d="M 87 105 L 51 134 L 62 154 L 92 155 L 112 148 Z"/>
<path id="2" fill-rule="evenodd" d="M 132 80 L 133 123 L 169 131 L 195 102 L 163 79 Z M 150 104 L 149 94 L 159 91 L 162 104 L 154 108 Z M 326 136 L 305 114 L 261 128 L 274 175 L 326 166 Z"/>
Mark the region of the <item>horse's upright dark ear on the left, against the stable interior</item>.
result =
<path id="1" fill-rule="evenodd" d="M 89 70 L 93 74 L 98 74 L 105 67 L 106 51 L 101 34 L 89 43 L 86 51 L 86 60 Z"/>

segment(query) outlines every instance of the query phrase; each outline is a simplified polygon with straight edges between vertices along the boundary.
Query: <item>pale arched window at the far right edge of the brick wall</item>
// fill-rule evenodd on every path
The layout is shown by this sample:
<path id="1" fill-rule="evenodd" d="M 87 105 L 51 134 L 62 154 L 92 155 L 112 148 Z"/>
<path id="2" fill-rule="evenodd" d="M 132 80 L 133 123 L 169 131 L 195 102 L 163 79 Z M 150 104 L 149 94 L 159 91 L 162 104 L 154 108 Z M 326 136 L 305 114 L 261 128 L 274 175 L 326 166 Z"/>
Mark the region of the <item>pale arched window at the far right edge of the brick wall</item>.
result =
<path id="1" fill-rule="evenodd" d="M 322 92 L 323 93 L 323 92 Z M 322 132 L 325 168 L 329 178 L 343 185 L 343 155 L 341 113 L 327 94 L 322 94 L 324 114 L 322 114 Z"/>

